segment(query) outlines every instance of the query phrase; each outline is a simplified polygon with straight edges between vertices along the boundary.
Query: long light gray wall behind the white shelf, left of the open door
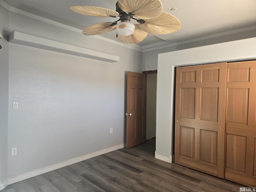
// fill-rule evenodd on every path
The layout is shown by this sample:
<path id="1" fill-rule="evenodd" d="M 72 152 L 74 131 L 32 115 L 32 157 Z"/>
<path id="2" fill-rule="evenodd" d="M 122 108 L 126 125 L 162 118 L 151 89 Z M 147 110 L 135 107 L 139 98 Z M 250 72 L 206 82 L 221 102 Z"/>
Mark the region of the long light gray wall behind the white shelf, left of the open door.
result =
<path id="1" fill-rule="evenodd" d="M 9 14 L 9 28 L 0 26 L 1 32 L 16 30 L 113 54 L 120 56 L 120 62 L 107 63 L 6 42 L 9 56 L 8 46 L 7 52 L 0 52 L 0 182 L 124 144 L 126 73 L 142 72 L 142 52 L 4 12 Z M 2 10 L 0 13 L 2 24 Z M 18 102 L 18 110 L 12 110 L 13 102 Z M 16 156 L 11 155 L 13 147 L 17 147 Z"/>

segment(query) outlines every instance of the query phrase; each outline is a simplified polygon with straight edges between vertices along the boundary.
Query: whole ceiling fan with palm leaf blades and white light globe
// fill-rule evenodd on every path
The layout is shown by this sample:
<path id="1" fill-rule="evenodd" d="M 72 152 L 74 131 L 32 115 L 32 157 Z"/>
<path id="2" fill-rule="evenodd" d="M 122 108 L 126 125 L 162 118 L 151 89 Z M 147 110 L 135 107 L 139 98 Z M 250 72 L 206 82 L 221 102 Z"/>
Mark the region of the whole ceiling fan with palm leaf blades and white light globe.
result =
<path id="1" fill-rule="evenodd" d="M 95 17 L 120 17 L 114 22 L 101 22 L 86 27 L 84 35 L 99 35 L 117 29 L 116 37 L 124 43 L 136 44 L 148 33 L 169 34 L 180 29 L 180 21 L 169 13 L 162 12 L 160 0 L 118 0 L 116 11 L 95 6 L 70 6 L 79 14 Z M 131 19 L 138 22 L 133 24 Z"/>

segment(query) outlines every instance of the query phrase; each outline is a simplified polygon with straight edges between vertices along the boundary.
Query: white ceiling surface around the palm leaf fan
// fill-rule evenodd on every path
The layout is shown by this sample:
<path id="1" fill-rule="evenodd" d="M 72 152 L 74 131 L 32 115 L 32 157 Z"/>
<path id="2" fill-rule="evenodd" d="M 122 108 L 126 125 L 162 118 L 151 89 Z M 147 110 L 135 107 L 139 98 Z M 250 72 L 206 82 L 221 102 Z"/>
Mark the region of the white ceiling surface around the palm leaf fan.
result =
<path id="1" fill-rule="evenodd" d="M 84 16 L 69 9 L 71 5 L 99 6 L 116 10 L 117 0 L 3 0 L 9 6 L 82 30 L 92 24 L 116 18 Z M 161 0 L 163 12 L 181 22 L 177 32 L 148 36 L 140 46 L 206 39 L 256 29 L 256 0 Z M 176 7 L 176 11 L 171 9 Z M 118 41 L 116 31 L 100 35 Z"/>

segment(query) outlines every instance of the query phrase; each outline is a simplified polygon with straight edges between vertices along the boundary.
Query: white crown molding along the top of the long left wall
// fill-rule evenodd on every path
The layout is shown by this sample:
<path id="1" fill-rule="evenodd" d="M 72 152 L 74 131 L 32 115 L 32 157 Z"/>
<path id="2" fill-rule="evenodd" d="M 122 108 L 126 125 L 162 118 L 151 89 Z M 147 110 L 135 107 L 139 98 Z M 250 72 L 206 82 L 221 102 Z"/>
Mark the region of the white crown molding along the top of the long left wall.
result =
<path id="1" fill-rule="evenodd" d="M 44 17 L 41 17 L 41 16 L 38 16 L 38 15 L 29 13 L 29 12 L 26 12 L 26 11 L 17 9 L 15 7 L 12 7 L 12 6 L 8 5 L 3 0 L 0 0 L 0 5 L 2 5 L 4 8 L 8 9 L 11 12 L 14 12 L 14 13 L 17 13 L 17 14 L 20 14 L 20 15 L 24 15 L 24 16 L 42 21 L 42 22 L 46 22 L 48 24 L 52 24 L 52 25 L 55 25 L 55 26 L 58 26 L 58 27 L 61 27 L 61 28 L 65 28 L 65 29 L 68 29 L 68 30 L 71 30 L 71 31 L 74 31 L 74 32 L 78 32 L 79 34 L 82 34 L 82 30 L 80 30 L 78 28 L 74 28 L 74 27 L 71 27 L 71 26 L 68 26 L 68 25 L 65 25 L 65 24 L 62 24 L 62 23 L 59 23 L 59 22 L 56 22 L 56 21 L 53 21 L 53 20 L 50 20 L 50 19 L 47 19 L 47 18 L 44 18 Z M 141 46 L 139 46 L 139 45 L 124 44 L 124 43 L 116 42 L 114 40 L 110 40 L 108 38 L 104 38 L 104 37 L 98 36 L 98 35 L 94 35 L 94 36 L 91 36 L 91 37 L 97 38 L 97 39 L 100 39 L 100 40 L 104 40 L 106 42 L 110 42 L 110 43 L 113 43 L 113 44 L 116 44 L 116 45 L 119 45 L 119 46 L 123 46 L 123 47 L 126 47 L 126 48 L 130 48 L 130 49 L 133 49 L 133 50 L 136 50 L 136 51 L 142 51 Z"/>

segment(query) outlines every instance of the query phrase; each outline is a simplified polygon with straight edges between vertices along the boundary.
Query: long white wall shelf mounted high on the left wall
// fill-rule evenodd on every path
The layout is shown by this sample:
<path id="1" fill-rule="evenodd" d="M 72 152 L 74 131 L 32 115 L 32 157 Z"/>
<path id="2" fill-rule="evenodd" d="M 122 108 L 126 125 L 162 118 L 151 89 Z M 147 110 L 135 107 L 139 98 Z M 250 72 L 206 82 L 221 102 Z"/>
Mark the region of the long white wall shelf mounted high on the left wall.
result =
<path id="1" fill-rule="evenodd" d="M 44 50 L 50 50 L 50 51 L 80 56 L 84 58 L 90 58 L 94 60 L 100 60 L 100 61 L 109 62 L 109 63 L 120 61 L 119 56 L 98 52 L 98 51 L 18 32 L 18 31 L 13 31 L 10 34 L 9 42 L 30 46 L 30 47 L 35 47 L 35 48 L 40 48 Z"/>

